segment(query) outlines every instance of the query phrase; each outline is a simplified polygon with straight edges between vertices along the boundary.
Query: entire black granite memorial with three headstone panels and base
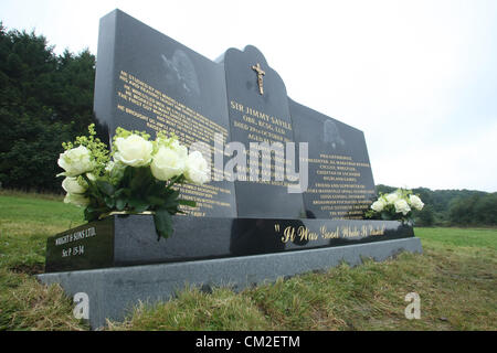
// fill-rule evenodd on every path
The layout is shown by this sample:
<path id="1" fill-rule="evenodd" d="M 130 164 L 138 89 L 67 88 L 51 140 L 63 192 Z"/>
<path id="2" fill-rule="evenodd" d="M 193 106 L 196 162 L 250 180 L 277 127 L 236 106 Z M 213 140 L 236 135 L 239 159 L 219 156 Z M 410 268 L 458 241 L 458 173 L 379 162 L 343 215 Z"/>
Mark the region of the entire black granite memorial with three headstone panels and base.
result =
<path id="1" fill-rule="evenodd" d="M 363 133 L 289 99 L 283 79 L 254 46 L 230 49 L 212 62 L 115 10 L 101 20 L 94 107 L 98 129 L 109 139 L 117 127 L 152 136 L 165 130 L 187 146 L 205 142 L 210 150 L 203 152 L 211 156 L 221 148 L 223 157 L 211 160 L 212 182 L 182 188 L 181 197 L 195 201 L 197 207 L 173 217 L 171 237 L 157 239 L 151 215 L 113 215 L 82 225 L 47 239 L 42 281 L 103 300 L 117 287 L 126 289 L 125 278 L 133 282 L 138 276 L 155 289 L 137 292 L 130 285 L 126 299 L 133 303 L 165 298 L 181 281 L 228 280 L 243 287 L 348 257 L 357 263 L 361 256 L 421 252 L 411 226 L 362 217 L 374 197 Z M 245 180 L 226 180 L 223 165 L 234 156 L 223 146 L 232 141 L 247 149 L 251 142 L 307 142 L 308 154 L 294 165 L 295 171 L 308 165 L 307 189 L 289 193 L 288 181 L 251 179 L 252 165 L 239 165 Z M 274 151 L 269 157 L 275 176 L 282 172 L 276 167 L 282 156 Z M 158 279 L 154 272 L 144 280 L 144 274 L 158 271 L 155 266 L 175 279 Z M 210 275 L 199 277 L 207 268 Z M 98 276 L 107 278 L 101 287 L 95 285 Z M 92 282 L 87 288 L 81 284 L 85 280 Z M 154 281 L 166 286 L 160 295 Z M 91 318 L 94 327 L 123 314 L 115 303 L 108 310 L 98 306 Z"/>

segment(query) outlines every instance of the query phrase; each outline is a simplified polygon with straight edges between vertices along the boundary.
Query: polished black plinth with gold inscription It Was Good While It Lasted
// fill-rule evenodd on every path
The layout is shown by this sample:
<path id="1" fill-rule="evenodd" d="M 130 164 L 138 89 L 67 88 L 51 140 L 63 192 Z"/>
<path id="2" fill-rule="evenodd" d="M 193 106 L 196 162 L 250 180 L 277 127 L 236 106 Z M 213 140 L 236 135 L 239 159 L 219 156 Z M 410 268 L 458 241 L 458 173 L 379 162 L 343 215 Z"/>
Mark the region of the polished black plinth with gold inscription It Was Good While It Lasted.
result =
<path id="1" fill-rule="evenodd" d="M 173 225 L 173 235 L 159 240 L 151 215 L 115 215 L 66 231 L 47 239 L 45 271 L 273 254 L 414 236 L 411 226 L 395 221 L 175 216 Z"/>

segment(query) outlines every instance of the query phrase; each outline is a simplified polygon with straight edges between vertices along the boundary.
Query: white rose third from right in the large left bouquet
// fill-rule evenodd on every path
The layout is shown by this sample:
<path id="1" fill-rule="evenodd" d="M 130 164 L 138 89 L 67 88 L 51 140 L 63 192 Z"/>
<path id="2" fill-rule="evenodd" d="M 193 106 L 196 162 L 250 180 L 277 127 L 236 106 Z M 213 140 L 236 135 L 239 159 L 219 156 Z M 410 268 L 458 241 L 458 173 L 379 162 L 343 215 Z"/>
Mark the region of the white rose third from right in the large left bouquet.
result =
<path id="1" fill-rule="evenodd" d="M 118 137 L 115 143 L 117 151 L 114 154 L 114 159 L 126 165 L 144 167 L 151 160 L 152 143 L 141 136 Z"/>

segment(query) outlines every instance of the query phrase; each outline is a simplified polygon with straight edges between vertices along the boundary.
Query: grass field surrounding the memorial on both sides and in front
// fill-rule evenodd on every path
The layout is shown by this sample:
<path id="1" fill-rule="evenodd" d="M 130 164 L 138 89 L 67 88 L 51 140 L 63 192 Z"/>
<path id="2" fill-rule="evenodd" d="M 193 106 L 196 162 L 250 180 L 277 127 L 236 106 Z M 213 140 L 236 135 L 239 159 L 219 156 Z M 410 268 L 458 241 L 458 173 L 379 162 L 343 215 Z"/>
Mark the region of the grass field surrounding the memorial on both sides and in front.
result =
<path id="1" fill-rule="evenodd" d="M 60 196 L 0 192 L 0 330 L 88 330 L 59 286 L 42 286 L 45 240 L 83 223 Z M 108 330 L 496 330 L 497 229 L 416 228 L 423 255 L 341 265 L 240 293 L 186 288 Z M 404 297 L 421 297 L 408 320 Z"/>

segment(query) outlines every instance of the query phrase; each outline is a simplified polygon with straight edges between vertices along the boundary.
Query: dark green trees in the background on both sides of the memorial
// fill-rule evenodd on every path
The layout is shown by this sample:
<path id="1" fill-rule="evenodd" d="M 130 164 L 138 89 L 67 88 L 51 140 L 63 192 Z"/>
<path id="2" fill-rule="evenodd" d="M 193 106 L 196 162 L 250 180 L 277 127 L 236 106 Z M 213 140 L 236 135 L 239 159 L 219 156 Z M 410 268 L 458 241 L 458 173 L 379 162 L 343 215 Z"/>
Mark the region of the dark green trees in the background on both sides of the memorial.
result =
<path id="1" fill-rule="evenodd" d="M 56 55 L 43 35 L 0 22 L 0 188 L 61 192 L 62 142 L 94 122 L 95 56 Z M 396 188 L 378 185 L 377 192 Z M 425 207 L 417 225 L 497 225 L 497 193 L 413 190 Z"/>

